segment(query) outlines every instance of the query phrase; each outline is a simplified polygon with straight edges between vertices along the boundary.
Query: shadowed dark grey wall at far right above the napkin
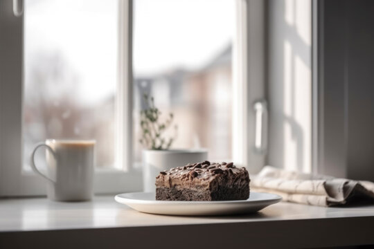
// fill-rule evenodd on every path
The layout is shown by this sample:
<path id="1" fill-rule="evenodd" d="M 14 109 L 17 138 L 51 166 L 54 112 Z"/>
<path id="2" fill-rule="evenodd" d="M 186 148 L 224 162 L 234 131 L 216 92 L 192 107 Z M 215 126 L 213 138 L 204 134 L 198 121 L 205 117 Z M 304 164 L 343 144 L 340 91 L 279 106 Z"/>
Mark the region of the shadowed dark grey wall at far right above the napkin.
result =
<path id="1" fill-rule="evenodd" d="M 319 2 L 321 174 L 374 181 L 374 1 Z"/>

